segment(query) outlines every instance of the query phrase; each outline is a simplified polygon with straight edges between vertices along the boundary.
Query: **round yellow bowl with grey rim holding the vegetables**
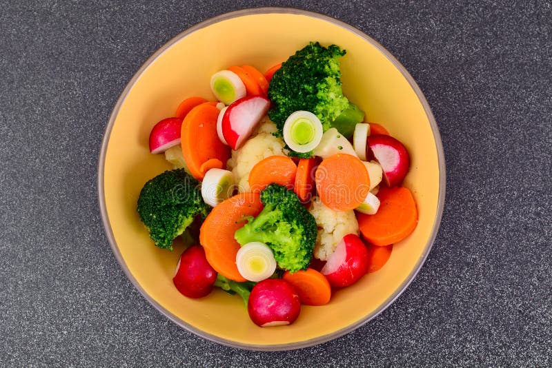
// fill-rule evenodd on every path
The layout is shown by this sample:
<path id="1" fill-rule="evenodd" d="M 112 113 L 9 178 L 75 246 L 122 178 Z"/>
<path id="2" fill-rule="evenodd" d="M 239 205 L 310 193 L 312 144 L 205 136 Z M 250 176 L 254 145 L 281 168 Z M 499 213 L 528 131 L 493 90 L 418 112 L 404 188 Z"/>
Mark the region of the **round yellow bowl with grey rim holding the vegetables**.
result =
<path id="1" fill-rule="evenodd" d="M 382 123 L 411 154 L 404 181 L 417 201 L 419 223 L 397 243 L 388 263 L 358 283 L 335 292 L 328 305 L 303 306 L 293 325 L 260 328 L 241 298 L 215 290 L 189 299 L 172 285 L 181 249 L 152 244 L 139 220 L 141 187 L 169 169 L 164 156 L 148 151 L 157 121 L 171 116 L 187 96 L 213 99 L 210 76 L 230 65 L 266 70 L 309 41 L 335 43 L 342 58 L 343 90 Z M 255 350 L 307 347 L 342 336 L 380 314 L 424 263 L 440 224 L 445 192 L 444 154 L 437 125 L 420 88 L 382 45 L 341 21 L 289 8 L 257 8 L 215 17 L 182 32 L 142 65 L 112 112 L 99 159 L 103 225 L 117 260 L 135 287 L 161 313 L 217 343 Z"/>

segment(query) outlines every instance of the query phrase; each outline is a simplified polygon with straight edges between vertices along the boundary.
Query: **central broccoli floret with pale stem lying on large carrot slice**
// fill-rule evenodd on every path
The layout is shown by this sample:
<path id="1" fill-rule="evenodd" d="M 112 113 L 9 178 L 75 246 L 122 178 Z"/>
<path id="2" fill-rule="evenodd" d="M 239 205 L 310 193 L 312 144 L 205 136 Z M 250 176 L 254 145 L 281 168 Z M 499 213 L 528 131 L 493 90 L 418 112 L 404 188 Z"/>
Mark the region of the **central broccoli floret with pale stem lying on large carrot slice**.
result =
<path id="1" fill-rule="evenodd" d="M 307 269 L 316 243 L 315 218 L 286 187 L 270 184 L 261 192 L 264 209 L 235 232 L 236 241 L 266 243 L 274 252 L 278 267 L 290 272 Z"/>

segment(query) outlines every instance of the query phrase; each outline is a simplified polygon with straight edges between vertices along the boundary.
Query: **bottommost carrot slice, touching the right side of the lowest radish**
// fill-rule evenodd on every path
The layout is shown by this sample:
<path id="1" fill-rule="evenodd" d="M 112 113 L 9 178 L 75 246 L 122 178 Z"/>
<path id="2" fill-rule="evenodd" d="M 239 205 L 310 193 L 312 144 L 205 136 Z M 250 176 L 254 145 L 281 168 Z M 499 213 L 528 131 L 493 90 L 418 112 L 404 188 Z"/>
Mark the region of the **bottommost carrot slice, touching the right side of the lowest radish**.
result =
<path id="1" fill-rule="evenodd" d="M 297 271 L 293 274 L 286 271 L 282 278 L 293 286 L 302 304 L 324 305 L 330 301 L 330 283 L 326 276 L 315 269 L 308 268 L 306 271 Z"/>

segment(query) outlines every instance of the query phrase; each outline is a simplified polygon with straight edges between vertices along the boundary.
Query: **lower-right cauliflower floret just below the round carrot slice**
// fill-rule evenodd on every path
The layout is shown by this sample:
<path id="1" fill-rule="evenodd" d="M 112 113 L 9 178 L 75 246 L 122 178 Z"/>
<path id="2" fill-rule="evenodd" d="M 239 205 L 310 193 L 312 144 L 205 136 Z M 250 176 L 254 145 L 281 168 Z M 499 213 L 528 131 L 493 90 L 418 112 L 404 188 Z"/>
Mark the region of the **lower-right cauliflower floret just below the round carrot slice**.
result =
<path id="1" fill-rule="evenodd" d="M 358 235 L 358 222 L 355 211 L 334 211 L 320 201 L 320 198 L 313 197 L 308 212 L 314 216 L 318 225 L 318 234 L 314 256 L 319 260 L 327 260 L 335 251 L 339 243 L 347 234 Z"/>

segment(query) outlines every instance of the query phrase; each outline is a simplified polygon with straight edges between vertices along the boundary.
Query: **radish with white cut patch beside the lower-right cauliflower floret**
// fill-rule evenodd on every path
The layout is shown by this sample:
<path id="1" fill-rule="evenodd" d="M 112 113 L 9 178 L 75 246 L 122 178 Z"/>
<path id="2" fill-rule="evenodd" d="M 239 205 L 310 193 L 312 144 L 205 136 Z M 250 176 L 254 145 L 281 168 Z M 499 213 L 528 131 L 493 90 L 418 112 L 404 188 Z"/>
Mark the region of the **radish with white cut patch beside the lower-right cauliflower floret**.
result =
<path id="1" fill-rule="evenodd" d="M 356 283 L 368 270 L 368 250 L 355 234 L 348 234 L 337 244 L 320 271 L 333 287 Z"/>

